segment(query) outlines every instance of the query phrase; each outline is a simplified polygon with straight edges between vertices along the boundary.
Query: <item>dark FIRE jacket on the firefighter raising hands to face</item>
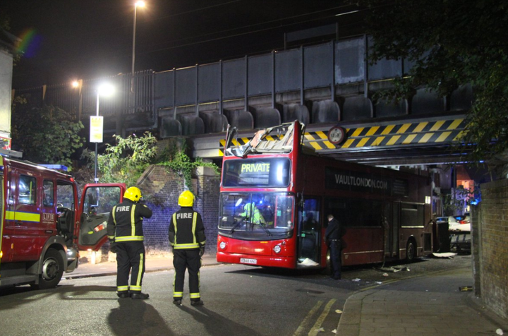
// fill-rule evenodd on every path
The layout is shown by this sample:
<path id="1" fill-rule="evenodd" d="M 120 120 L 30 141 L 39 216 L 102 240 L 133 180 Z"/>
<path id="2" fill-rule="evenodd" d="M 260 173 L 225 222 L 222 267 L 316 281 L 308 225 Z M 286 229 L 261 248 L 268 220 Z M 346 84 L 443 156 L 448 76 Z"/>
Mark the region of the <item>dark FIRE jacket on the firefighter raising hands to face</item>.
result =
<path id="1" fill-rule="evenodd" d="M 143 217 L 152 217 L 152 210 L 127 198 L 111 209 L 107 222 L 109 241 L 143 241 Z"/>

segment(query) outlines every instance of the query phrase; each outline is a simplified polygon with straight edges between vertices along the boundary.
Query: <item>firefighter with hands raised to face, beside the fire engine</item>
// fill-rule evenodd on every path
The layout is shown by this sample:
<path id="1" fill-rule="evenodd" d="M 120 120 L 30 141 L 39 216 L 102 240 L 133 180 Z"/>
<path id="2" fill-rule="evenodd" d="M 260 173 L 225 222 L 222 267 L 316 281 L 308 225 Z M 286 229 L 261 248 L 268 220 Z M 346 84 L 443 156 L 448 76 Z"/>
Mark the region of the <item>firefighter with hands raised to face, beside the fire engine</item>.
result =
<path id="1" fill-rule="evenodd" d="M 110 251 L 116 253 L 116 295 L 119 298 L 148 299 L 141 292 L 145 274 L 145 245 L 143 244 L 143 217 L 152 217 L 152 210 L 139 201 L 139 188 L 131 186 L 123 195 L 123 202 L 111 210 L 107 222 Z M 132 270 L 132 272 L 131 272 Z M 129 272 L 131 285 L 129 286 Z"/>

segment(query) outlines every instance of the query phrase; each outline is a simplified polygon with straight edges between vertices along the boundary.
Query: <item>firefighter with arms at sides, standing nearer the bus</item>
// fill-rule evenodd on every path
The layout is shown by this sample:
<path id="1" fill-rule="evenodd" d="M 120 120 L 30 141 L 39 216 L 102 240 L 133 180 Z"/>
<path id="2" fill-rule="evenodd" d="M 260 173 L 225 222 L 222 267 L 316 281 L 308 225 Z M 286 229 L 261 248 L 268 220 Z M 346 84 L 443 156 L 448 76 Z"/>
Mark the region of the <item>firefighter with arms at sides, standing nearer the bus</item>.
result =
<path id="1" fill-rule="evenodd" d="M 173 303 L 181 305 L 185 272 L 189 275 L 189 296 L 192 306 L 202 306 L 200 288 L 201 257 L 205 253 L 205 227 L 199 212 L 193 210 L 194 195 L 183 191 L 179 196 L 181 209 L 171 216 L 169 244 L 173 248 L 175 269 Z"/>

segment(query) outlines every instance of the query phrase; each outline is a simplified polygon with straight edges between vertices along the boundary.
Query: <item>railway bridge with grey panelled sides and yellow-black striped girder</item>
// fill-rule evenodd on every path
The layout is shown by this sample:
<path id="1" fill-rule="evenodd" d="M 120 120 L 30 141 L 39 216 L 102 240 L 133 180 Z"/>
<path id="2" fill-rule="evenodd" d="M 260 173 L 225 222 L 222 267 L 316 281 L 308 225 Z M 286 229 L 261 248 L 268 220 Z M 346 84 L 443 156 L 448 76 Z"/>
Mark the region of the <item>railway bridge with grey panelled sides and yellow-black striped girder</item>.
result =
<path id="1" fill-rule="evenodd" d="M 450 150 L 464 131 L 470 86 L 438 97 L 418 88 L 393 104 L 373 99 L 405 76 L 411 62 L 365 61 L 369 38 L 346 40 L 196 64 L 168 71 L 138 71 L 16 90 L 34 104 L 73 110 L 83 124 L 97 113 L 99 82 L 116 86 L 100 98 L 104 136 L 150 131 L 160 139 L 185 137 L 194 157 L 218 160 L 228 125 L 246 143 L 260 128 L 298 119 L 305 143 L 321 155 L 375 165 L 442 164 L 459 160 Z"/>

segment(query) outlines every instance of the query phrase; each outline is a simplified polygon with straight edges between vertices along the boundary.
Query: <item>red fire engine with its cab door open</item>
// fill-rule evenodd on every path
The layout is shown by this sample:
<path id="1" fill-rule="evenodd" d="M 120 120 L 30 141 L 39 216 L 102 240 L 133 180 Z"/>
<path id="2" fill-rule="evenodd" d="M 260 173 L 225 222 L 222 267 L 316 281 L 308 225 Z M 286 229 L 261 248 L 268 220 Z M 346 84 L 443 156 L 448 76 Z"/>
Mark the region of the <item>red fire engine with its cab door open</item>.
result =
<path id="1" fill-rule="evenodd" d="M 79 251 L 107 241 L 109 212 L 125 189 L 87 184 L 78 202 L 71 175 L 0 155 L 0 287 L 56 287 L 78 268 Z"/>

